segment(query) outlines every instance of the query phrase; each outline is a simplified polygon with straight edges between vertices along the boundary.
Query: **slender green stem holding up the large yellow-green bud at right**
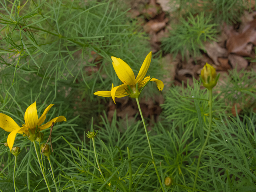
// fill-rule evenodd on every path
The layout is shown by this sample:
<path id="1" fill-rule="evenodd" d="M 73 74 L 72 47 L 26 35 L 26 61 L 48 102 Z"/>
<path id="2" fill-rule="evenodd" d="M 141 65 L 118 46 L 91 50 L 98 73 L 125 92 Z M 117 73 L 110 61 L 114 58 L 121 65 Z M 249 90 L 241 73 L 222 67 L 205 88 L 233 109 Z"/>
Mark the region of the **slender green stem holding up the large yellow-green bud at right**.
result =
<path id="1" fill-rule="evenodd" d="M 205 148 L 205 146 L 208 142 L 208 139 L 210 137 L 211 128 L 212 128 L 212 89 L 209 89 L 209 128 L 208 128 L 208 132 L 207 132 L 207 136 L 205 138 L 204 144 L 203 144 L 203 146 L 200 150 L 200 154 L 199 154 L 199 157 L 198 157 L 198 162 L 197 162 L 197 167 L 196 167 L 196 175 L 195 175 L 194 186 L 193 186 L 193 192 L 196 190 L 196 181 L 197 181 L 197 177 L 198 177 L 200 160 L 201 160 L 202 154 L 204 152 L 204 148 Z"/>

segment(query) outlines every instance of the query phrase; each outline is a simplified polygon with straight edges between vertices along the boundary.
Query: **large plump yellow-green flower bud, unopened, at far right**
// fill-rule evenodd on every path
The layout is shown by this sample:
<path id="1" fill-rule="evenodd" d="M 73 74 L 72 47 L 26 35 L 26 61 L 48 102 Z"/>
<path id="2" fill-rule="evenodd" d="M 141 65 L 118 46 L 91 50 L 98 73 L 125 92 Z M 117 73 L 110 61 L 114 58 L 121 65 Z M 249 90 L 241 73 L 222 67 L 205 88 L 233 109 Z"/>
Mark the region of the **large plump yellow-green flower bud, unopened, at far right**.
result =
<path id="1" fill-rule="evenodd" d="M 216 86 L 219 75 L 216 74 L 216 69 L 206 63 L 201 71 L 201 81 L 205 88 L 212 89 Z"/>

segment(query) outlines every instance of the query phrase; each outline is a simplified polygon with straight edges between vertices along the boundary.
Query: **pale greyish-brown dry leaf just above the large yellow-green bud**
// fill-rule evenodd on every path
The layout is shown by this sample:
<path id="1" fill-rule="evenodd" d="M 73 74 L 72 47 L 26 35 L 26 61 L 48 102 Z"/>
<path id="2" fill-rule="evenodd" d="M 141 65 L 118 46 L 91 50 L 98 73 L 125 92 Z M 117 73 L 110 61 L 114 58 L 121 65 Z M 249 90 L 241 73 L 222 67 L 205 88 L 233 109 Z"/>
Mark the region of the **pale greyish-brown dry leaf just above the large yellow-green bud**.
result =
<path id="1" fill-rule="evenodd" d="M 204 44 L 204 48 L 208 54 L 208 56 L 213 60 L 214 64 L 220 66 L 218 62 L 218 57 L 227 57 L 228 51 L 218 45 L 217 42 L 206 42 Z"/>

